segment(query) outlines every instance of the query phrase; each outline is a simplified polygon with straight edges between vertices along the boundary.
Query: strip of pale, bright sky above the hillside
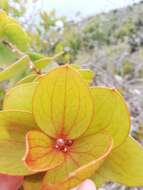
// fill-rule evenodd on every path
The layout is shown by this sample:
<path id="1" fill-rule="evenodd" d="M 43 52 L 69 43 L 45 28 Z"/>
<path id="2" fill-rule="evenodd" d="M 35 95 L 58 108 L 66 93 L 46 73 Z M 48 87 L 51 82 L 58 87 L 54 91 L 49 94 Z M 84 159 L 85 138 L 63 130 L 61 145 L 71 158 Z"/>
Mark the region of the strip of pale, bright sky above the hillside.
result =
<path id="1" fill-rule="evenodd" d="M 141 0 L 41 0 L 40 6 L 43 10 L 55 9 L 58 15 L 74 18 L 79 11 L 82 16 L 88 16 L 139 1 Z"/>

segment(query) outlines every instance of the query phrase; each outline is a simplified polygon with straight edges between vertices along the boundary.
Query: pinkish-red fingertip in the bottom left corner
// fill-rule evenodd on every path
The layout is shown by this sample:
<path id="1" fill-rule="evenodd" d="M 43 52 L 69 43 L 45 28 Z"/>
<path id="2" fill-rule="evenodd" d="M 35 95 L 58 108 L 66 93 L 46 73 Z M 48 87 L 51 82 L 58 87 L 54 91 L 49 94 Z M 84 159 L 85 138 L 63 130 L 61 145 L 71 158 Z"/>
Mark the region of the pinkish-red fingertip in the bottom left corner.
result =
<path id="1" fill-rule="evenodd" d="M 1 190 L 18 190 L 23 183 L 23 177 L 0 174 Z"/>

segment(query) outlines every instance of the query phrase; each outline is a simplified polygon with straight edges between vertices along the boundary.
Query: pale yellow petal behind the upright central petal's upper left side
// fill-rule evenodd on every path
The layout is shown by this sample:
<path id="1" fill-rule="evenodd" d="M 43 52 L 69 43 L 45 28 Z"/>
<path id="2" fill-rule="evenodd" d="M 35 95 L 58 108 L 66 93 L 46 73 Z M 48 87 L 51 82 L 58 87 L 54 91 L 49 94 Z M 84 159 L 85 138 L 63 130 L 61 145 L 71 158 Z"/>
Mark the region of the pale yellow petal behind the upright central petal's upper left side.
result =
<path id="1" fill-rule="evenodd" d="M 32 112 L 32 97 L 38 83 L 26 83 L 11 88 L 6 93 L 3 109 Z"/>

